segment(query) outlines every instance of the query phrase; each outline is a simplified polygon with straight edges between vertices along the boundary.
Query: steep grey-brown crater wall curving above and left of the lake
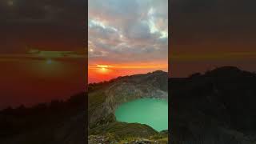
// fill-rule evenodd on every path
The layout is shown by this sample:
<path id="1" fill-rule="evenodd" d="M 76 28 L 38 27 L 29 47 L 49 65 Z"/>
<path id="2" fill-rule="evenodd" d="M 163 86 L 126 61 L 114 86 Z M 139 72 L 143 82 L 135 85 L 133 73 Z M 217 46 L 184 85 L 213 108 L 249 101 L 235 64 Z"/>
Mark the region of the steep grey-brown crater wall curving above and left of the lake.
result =
<path id="1" fill-rule="evenodd" d="M 115 121 L 114 111 L 124 102 L 138 98 L 168 99 L 167 73 L 157 72 L 121 78 L 107 86 L 101 106 L 90 114 L 90 126 Z M 98 123 L 98 124 L 97 124 Z"/>

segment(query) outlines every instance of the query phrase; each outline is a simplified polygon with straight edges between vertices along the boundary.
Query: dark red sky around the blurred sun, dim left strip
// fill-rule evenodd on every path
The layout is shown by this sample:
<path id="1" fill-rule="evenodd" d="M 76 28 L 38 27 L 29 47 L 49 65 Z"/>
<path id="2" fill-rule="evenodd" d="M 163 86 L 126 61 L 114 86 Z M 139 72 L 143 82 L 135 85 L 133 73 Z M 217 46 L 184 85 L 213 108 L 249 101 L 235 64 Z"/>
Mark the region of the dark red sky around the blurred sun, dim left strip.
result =
<path id="1" fill-rule="evenodd" d="M 59 52 L 61 53 L 61 52 Z M 85 55 L 0 54 L 0 109 L 66 99 L 86 90 Z"/>

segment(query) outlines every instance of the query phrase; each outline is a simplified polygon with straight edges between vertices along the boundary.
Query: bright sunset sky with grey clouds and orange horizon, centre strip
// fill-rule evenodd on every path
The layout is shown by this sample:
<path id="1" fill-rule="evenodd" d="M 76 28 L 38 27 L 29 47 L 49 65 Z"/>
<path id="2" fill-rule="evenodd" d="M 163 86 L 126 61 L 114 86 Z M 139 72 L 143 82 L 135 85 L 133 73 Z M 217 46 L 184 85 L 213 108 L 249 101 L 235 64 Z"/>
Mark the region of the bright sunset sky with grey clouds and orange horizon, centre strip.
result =
<path id="1" fill-rule="evenodd" d="M 167 0 L 89 0 L 89 82 L 168 69 Z"/>

